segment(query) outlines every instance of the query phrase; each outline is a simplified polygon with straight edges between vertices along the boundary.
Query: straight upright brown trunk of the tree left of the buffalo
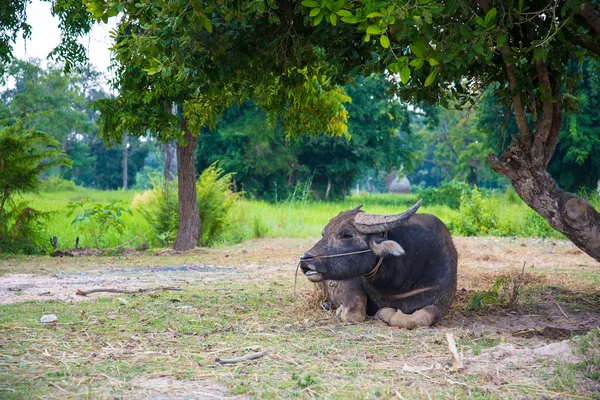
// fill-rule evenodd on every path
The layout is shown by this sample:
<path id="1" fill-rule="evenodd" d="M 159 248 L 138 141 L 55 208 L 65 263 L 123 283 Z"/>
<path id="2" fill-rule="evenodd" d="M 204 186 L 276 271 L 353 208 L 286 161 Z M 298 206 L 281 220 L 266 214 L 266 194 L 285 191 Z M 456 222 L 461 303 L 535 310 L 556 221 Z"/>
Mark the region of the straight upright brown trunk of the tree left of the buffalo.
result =
<path id="1" fill-rule="evenodd" d="M 179 197 L 179 229 L 174 250 L 185 251 L 196 247 L 200 236 L 200 214 L 196 196 L 196 166 L 194 152 L 198 137 L 189 131 L 185 118 L 181 119 L 185 145 L 177 145 L 177 178 Z"/>

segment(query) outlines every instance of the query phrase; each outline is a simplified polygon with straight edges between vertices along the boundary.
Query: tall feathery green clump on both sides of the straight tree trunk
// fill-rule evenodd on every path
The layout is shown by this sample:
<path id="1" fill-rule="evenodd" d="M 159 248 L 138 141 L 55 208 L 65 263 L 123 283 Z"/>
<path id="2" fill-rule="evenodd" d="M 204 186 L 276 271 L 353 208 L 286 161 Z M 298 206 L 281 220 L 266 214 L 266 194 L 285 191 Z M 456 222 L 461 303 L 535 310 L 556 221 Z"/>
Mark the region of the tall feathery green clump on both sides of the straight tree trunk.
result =
<path id="1" fill-rule="evenodd" d="M 241 193 L 233 192 L 231 182 L 232 174 L 225 174 L 216 163 L 206 168 L 198 178 L 196 192 L 201 223 L 198 244 L 215 245 L 231 234 L 226 232 L 227 228 L 235 229 L 235 224 L 228 222 Z M 152 186 L 151 190 L 135 199 L 134 205 L 150 223 L 156 239 L 162 245 L 172 245 L 179 227 L 177 183 L 165 184 L 153 179 Z"/>

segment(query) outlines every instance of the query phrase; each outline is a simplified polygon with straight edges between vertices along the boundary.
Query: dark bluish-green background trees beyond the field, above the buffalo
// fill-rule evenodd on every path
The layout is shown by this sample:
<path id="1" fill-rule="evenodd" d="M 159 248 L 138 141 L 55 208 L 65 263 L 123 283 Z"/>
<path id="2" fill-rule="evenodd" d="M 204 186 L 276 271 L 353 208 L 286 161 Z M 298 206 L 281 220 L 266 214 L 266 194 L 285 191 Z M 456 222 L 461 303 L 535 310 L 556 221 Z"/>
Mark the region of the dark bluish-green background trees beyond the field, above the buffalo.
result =
<path id="1" fill-rule="evenodd" d="M 253 104 L 225 113 L 214 131 L 199 137 L 196 162 L 204 169 L 214 161 L 235 172 L 239 188 L 252 196 L 285 199 L 298 185 L 308 184 L 318 198 L 340 198 L 367 174 L 417 162 L 419 140 L 409 128 L 405 106 L 390 101 L 384 76 L 359 78 L 345 90 L 352 102 L 349 137 L 285 138 L 283 128 L 270 128 L 267 115 Z"/>

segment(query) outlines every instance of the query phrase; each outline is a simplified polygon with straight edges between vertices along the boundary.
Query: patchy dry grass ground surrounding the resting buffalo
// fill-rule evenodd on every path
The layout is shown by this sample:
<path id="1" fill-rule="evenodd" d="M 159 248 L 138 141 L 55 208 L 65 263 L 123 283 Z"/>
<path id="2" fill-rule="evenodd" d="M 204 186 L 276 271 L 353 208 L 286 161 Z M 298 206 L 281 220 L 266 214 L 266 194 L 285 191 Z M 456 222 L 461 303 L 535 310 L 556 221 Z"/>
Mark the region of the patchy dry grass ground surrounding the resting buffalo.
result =
<path id="1" fill-rule="evenodd" d="M 93 287 L 93 276 L 114 279 L 105 285 L 169 283 L 184 292 L 80 302 L 40 296 L 3 306 L 0 396 L 591 398 L 598 390 L 597 381 L 570 361 L 532 355 L 517 366 L 494 353 L 504 344 L 532 349 L 547 343 L 543 335 L 515 336 L 524 329 L 536 333 L 551 325 L 569 332 L 580 323 L 585 329 L 598 326 L 598 310 L 592 308 L 600 305 L 593 276 L 599 265 L 569 244 L 457 238 L 464 294 L 438 326 L 403 331 L 373 319 L 340 324 L 333 312 L 319 307 L 322 294 L 301 274 L 294 293 L 297 258 L 312 242 L 257 240 L 186 254 L 2 261 L 0 284 L 9 273 L 35 271 L 39 278 L 57 282 L 51 290 L 63 292 L 76 289 L 62 287 L 69 279 Z M 500 277 L 515 279 L 524 261 L 516 307 L 466 311 L 469 293 L 488 290 Z M 219 267 L 185 274 L 160 269 L 173 265 Z M 82 273 L 92 270 L 102 272 Z M 22 298 L 31 290 L 2 295 Z M 40 316 L 48 313 L 55 313 L 59 324 L 40 324 Z M 463 354 L 462 371 L 450 368 L 446 333 L 454 335 Z M 568 347 L 577 353 L 576 347 Z M 231 366 L 215 363 L 216 357 L 255 351 L 269 354 Z"/>

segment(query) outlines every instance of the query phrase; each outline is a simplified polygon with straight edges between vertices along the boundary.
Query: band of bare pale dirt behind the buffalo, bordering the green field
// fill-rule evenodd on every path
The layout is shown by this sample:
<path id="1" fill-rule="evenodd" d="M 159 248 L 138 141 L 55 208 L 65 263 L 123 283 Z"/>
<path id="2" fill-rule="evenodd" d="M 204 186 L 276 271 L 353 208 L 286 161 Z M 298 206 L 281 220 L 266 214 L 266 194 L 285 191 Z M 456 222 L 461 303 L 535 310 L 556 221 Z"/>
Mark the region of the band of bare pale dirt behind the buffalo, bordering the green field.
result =
<path id="1" fill-rule="evenodd" d="M 511 333 L 549 339 L 569 337 L 571 333 L 600 326 L 600 263 L 572 243 L 481 237 L 458 237 L 454 241 L 459 252 L 457 297 L 453 311 L 438 326 L 461 326 L 473 333 Z M 88 259 L 44 257 L 36 265 L 37 273 L 10 273 L 21 270 L 19 266 L 25 264 L 24 260 L 0 261 L 0 304 L 89 299 L 77 295 L 78 289 L 136 290 L 177 286 L 190 281 L 226 281 L 234 277 L 238 282 L 289 277 L 294 274 L 299 255 L 313 242 L 262 239 L 230 248 L 198 249 L 184 254 L 162 250 L 149 255 L 132 252 L 119 257 Z M 197 259 L 196 264 L 189 264 L 190 255 Z M 187 264 L 180 264 L 180 256 L 186 256 Z M 85 267 L 81 267 L 84 263 Z M 474 291 L 489 289 L 502 276 L 518 277 L 523 265 L 524 288 L 528 284 L 545 285 L 544 290 L 537 293 L 535 304 L 483 315 L 462 312 Z M 298 278 L 304 279 L 301 274 Z M 579 301 L 581 307 L 574 308 L 572 301 L 556 300 L 556 295 L 565 290 L 569 290 L 564 293 L 565 299 L 574 297 L 570 300 Z M 587 297 L 578 296 L 581 291 L 587 293 Z M 93 296 L 107 295 L 111 294 Z"/>

